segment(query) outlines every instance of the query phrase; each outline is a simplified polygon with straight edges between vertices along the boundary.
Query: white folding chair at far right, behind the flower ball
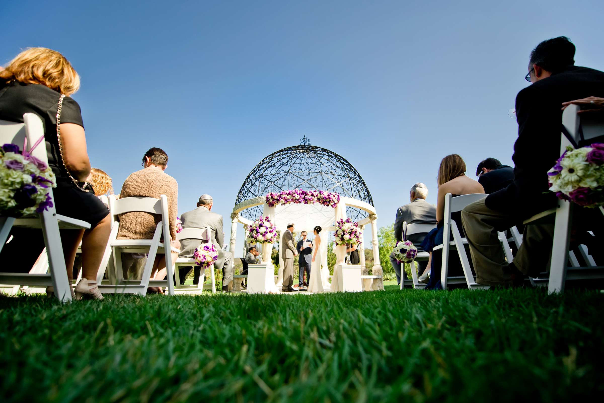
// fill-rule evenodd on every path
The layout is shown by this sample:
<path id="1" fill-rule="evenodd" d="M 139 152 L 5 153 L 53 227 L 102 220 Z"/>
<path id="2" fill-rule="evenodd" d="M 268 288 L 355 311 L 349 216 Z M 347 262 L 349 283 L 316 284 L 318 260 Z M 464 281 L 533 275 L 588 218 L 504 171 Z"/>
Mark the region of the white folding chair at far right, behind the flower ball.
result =
<path id="1" fill-rule="evenodd" d="M 579 147 L 585 143 L 589 143 L 591 139 L 604 136 L 604 118 L 602 114 L 577 115 L 579 109 L 577 105 L 569 105 L 562 113 L 561 154 L 566 150 L 567 146 Z M 573 203 L 558 200 L 556 208 L 542 211 L 524 221 L 525 225 L 535 224 L 540 220 L 547 219 L 547 216 L 550 214 L 555 214 L 550 279 L 548 282 L 548 291 L 550 293 L 564 291 L 564 283 L 567 278 L 573 208 Z M 604 208 L 600 207 L 600 211 L 604 214 Z M 573 277 L 576 279 L 602 278 L 601 271 L 604 269 L 604 266 L 590 266 L 582 269 L 585 273 Z"/>

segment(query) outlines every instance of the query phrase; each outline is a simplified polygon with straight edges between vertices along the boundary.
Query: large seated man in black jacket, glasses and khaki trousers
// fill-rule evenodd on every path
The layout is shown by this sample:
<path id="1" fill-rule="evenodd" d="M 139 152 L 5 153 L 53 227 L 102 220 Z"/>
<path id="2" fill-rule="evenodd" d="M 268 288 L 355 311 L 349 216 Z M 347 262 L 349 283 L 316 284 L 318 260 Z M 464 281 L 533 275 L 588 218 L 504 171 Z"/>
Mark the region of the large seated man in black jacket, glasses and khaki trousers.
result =
<path id="1" fill-rule="evenodd" d="M 553 220 L 551 224 L 526 225 L 522 245 L 510 264 L 497 231 L 556 206 L 556 196 L 548 192 L 547 171 L 560 156 L 561 106 L 589 95 L 604 96 L 604 73 L 574 66 L 574 51 L 564 36 L 544 40 L 533 49 L 525 77 L 532 85 L 516 97 L 514 180 L 462 211 L 477 283 L 521 285 L 524 275 L 535 277 L 548 267 Z"/>

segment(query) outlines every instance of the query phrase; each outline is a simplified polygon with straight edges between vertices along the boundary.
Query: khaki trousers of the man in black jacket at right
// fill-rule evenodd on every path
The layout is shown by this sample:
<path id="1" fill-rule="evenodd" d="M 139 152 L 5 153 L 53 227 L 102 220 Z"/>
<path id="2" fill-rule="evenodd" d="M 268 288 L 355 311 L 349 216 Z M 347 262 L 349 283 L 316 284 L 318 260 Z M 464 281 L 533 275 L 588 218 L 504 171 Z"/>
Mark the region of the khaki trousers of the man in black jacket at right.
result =
<path id="1" fill-rule="evenodd" d="M 476 282 L 490 286 L 512 283 L 508 262 L 497 231 L 506 231 L 518 222 L 518 216 L 491 210 L 484 199 L 467 205 L 461 211 L 461 222 L 470 246 Z M 514 265 L 524 274 L 537 277 L 549 269 L 554 224 L 528 224 L 524 227 L 522 245 Z"/>

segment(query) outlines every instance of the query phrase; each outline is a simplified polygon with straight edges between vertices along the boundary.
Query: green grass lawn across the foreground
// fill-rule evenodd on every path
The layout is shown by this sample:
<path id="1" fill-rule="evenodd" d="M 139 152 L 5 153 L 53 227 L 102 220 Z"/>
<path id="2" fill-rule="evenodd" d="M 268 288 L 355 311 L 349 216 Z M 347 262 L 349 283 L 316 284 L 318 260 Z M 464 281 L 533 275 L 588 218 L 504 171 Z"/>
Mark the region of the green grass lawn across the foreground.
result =
<path id="1" fill-rule="evenodd" d="M 604 294 L 0 299 L 0 401 L 570 401 L 604 388 Z"/>

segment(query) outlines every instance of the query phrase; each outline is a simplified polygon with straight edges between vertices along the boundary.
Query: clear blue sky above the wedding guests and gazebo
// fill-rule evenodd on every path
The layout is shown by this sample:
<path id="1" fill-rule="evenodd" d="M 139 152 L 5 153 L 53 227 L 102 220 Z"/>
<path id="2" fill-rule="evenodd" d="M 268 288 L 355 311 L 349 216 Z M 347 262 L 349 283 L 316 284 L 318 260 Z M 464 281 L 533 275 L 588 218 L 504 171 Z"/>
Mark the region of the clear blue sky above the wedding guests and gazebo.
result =
<path id="1" fill-rule="evenodd" d="M 590 0 L 19 1 L 0 15 L 0 63 L 36 46 L 68 57 L 92 166 L 116 192 L 161 147 L 179 211 L 210 193 L 228 236 L 249 171 L 306 134 L 356 167 L 386 225 L 415 182 L 435 203 L 449 153 L 472 178 L 487 156 L 512 164 L 528 54 L 565 35 L 577 65 L 604 70 L 602 21 Z"/>

